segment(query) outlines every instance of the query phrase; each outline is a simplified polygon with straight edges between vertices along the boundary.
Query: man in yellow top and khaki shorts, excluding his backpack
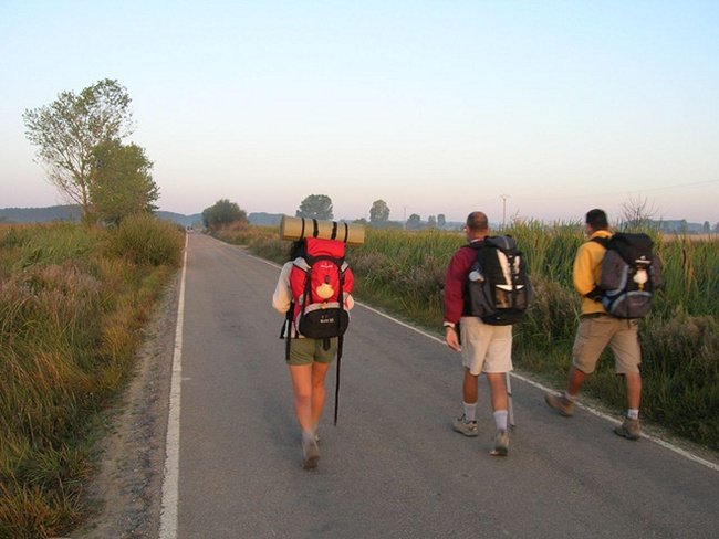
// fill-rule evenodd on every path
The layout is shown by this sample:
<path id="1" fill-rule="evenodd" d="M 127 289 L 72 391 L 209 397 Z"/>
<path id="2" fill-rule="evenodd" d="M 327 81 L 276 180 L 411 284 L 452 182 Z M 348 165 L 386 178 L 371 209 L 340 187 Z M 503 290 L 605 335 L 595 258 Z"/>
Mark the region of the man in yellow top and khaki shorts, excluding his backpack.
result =
<path id="1" fill-rule="evenodd" d="M 572 367 L 567 388 L 563 393 L 544 395 L 550 408 L 564 416 L 574 413 L 576 395 L 587 376 L 594 372 L 600 355 L 609 346 L 614 353 L 615 371 L 624 377 L 628 410 L 622 425 L 614 429 L 619 436 L 639 438 L 639 401 L 642 400 L 642 350 L 639 348 L 638 321 L 615 318 L 607 314 L 602 303 L 593 299 L 600 282 L 600 267 L 606 250 L 596 241 L 608 239 L 606 213 L 591 210 L 586 214 L 586 234 L 574 258 L 574 288 L 582 296 L 582 316 L 572 348 Z"/>

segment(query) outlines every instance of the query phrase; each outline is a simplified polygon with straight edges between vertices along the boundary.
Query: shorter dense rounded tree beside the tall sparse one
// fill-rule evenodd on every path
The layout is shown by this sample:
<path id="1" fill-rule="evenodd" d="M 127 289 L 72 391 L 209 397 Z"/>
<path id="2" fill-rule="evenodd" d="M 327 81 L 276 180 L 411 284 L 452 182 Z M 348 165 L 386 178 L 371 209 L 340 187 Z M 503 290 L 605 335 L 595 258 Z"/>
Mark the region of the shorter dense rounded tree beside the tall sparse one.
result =
<path id="1" fill-rule="evenodd" d="M 157 209 L 154 203 L 159 189 L 143 148 L 106 140 L 93 149 L 91 165 L 90 200 L 97 219 L 117 223 L 127 215 Z"/>

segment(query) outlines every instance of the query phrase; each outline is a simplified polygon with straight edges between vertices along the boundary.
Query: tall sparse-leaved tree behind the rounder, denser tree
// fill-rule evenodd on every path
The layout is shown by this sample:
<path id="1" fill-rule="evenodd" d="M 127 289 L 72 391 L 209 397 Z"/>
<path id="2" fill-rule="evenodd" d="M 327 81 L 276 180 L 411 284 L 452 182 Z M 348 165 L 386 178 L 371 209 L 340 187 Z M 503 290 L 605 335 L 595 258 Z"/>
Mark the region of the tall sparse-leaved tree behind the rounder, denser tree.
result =
<path id="1" fill-rule="evenodd" d="M 46 166 L 48 179 L 71 202 L 91 214 L 93 149 L 122 140 L 133 131 L 129 95 L 117 81 L 105 78 L 79 95 L 63 92 L 50 105 L 27 109 L 25 136 Z"/>

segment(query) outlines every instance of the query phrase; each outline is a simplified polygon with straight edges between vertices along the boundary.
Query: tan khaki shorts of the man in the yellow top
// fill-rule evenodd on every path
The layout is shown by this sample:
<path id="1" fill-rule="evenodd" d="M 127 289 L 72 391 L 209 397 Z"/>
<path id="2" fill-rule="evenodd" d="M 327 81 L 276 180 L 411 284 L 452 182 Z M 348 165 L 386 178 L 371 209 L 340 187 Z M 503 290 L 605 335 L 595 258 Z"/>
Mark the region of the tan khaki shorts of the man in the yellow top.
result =
<path id="1" fill-rule="evenodd" d="M 617 374 L 639 372 L 642 350 L 638 328 L 638 320 L 608 315 L 582 317 L 572 348 L 572 363 L 586 374 L 594 372 L 600 356 L 608 345 L 614 353 L 614 370 Z"/>

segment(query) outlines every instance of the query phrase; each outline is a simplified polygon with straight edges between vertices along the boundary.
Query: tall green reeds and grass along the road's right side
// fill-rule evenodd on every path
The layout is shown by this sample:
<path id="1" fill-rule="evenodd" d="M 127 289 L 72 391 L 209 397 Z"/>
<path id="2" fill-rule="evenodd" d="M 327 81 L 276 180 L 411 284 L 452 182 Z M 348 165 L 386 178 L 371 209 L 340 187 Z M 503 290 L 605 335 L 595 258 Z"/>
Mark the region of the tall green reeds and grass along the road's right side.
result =
<path id="1" fill-rule="evenodd" d="M 515 326 L 514 363 L 563 388 L 580 315 L 572 263 L 584 241 L 579 223 L 515 223 L 513 235 L 525 253 L 535 288 L 528 318 Z M 288 242 L 277 228 L 246 224 L 220 229 L 227 242 L 248 245 L 260 256 L 283 262 Z M 677 435 L 719 451 L 719 236 L 655 236 L 665 286 L 640 324 L 643 418 Z M 348 247 L 356 296 L 387 313 L 438 331 L 447 263 L 463 243 L 460 233 L 368 229 L 366 242 Z M 617 413 L 625 408 L 622 380 L 611 352 L 583 388 Z"/>

